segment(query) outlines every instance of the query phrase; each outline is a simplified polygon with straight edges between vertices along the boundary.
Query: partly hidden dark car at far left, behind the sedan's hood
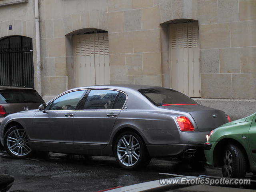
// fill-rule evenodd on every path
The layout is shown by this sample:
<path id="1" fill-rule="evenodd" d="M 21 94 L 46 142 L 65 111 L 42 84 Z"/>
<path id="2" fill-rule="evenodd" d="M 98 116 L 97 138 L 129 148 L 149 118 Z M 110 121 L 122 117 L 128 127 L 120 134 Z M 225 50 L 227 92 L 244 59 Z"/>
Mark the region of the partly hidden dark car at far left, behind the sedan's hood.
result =
<path id="1" fill-rule="evenodd" d="M 42 97 L 32 88 L 0 86 L 0 124 L 8 114 L 37 109 L 43 103 Z"/>

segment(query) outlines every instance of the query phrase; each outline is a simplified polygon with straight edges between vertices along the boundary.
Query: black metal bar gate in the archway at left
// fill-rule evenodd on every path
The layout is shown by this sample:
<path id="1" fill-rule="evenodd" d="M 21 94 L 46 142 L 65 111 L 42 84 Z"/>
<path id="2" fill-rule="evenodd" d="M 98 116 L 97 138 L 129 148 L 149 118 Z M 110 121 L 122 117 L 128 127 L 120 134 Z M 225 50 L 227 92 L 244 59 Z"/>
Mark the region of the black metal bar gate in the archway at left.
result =
<path id="1" fill-rule="evenodd" d="M 11 36 L 0 40 L 0 86 L 34 88 L 32 38 Z"/>

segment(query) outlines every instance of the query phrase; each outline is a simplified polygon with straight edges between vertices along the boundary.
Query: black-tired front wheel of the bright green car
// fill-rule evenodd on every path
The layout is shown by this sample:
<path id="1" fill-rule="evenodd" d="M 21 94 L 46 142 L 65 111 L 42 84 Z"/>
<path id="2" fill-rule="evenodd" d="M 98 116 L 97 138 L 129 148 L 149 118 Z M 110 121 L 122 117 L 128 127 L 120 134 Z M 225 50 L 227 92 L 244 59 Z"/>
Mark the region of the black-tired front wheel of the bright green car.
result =
<path id="1" fill-rule="evenodd" d="M 244 152 L 235 144 L 228 144 L 222 152 L 222 174 L 224 177 L 244 178 L 247 163 Z"/>

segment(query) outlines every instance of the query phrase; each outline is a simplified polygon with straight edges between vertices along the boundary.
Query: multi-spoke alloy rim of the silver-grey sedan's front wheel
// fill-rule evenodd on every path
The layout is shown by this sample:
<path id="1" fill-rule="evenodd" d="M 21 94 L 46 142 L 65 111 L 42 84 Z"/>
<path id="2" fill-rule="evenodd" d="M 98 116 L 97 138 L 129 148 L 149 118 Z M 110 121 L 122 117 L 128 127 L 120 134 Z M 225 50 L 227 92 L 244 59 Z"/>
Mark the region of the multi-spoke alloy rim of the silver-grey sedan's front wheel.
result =
<path id="1" fill-rule="evenodd" d="M 7 147 L 17 156 L 25 156 L 31 152 L 28 145 L 28 136 L 24 129 L 13 130 L 7 138 Z"/>

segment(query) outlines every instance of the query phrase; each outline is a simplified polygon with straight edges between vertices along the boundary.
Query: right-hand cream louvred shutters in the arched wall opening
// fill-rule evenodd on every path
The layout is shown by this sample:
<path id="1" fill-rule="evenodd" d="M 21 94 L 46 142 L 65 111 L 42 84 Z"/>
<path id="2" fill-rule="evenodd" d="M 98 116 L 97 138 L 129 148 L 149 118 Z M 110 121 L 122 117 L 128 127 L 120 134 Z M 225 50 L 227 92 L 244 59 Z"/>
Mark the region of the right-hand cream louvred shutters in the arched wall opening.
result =
<path id="1" fill-rule="evenodd" d="M 190 97 L 200 97 L 198 34 L 198 22 L 170 24 L 171 85 Z"/>

